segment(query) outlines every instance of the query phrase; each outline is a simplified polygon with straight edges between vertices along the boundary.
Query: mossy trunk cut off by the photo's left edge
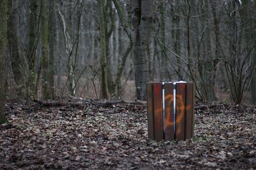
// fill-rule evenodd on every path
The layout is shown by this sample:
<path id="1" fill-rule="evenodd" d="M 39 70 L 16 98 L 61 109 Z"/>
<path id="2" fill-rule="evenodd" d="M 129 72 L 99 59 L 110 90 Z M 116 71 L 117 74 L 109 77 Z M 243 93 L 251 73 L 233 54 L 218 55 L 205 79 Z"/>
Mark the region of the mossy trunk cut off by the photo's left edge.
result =
<path id="1" fill-rule="evenodd" d="M 0 124 L 6 122 L 4 101 L 6 97 L 6 59 L 7 59 L 7 20 L 8 1 L 0 1 Z"/>

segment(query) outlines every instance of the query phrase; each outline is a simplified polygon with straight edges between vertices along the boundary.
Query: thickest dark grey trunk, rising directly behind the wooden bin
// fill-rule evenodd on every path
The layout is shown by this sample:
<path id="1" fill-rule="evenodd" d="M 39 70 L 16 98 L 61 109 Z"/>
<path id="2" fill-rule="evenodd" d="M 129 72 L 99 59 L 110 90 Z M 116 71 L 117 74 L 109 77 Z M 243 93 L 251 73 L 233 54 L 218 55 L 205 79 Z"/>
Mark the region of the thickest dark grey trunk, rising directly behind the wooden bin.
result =
<path id="1" fill-rule="evenodd" d="M 132 0 L 132 41 L 136 98 L 146 99 L 146 83 L 149 80 L 147 46 L 153 21 L 151 0 Z"/>

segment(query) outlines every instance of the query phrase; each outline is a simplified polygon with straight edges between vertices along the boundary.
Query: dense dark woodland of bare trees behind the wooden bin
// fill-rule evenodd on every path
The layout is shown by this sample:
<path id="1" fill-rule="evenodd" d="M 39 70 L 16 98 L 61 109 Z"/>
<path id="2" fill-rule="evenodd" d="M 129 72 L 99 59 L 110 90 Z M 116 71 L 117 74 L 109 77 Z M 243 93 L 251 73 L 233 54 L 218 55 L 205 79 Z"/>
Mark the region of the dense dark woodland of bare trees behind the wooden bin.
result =
<path id="1" fill-rule="evenodd" d="M 0 4 L 4 99 L 144 100 L 147 81 L 184 80 L 200 101 L 256 103 L 255 1 Z"/>

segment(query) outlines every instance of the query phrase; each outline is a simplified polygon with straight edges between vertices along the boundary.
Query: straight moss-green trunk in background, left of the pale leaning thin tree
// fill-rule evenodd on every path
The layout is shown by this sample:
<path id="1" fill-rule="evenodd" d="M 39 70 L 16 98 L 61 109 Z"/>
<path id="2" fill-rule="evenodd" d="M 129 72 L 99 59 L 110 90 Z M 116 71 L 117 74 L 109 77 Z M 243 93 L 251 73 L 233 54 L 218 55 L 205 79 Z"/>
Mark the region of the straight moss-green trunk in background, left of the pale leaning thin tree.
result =
<path id="1" fill-rule="evenodd" d="M 42 0 L 41 12 L 41 59 L 42 59 L 42 97 L 51 99 L 51 87 L 49 80 L 49 48 L 48 48 L 48 22 L 46 0 Z M 39 75 L 38 75 L 39 76 Z"/>

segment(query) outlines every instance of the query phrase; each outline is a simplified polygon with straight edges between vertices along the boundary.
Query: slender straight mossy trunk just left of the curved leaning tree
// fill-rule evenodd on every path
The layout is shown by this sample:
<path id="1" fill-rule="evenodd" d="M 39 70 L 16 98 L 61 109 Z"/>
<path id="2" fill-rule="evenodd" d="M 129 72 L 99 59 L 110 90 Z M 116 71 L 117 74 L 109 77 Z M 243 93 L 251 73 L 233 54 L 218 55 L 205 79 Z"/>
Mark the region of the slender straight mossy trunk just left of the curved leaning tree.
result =
<path id="1" fill-rule="evenodd" d="M 99 3 L 99 23 L 100 23 L 100 65 L 101 65 L 101 85 L 102 97 L 109 98 L 108 94 L 108 71 L 107 71 L 107 56 L 106 56 L 106 30 L 104 20 L 104 0 L 98 0 Z"/>

